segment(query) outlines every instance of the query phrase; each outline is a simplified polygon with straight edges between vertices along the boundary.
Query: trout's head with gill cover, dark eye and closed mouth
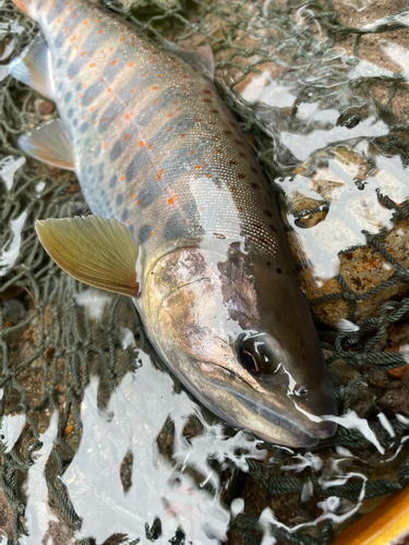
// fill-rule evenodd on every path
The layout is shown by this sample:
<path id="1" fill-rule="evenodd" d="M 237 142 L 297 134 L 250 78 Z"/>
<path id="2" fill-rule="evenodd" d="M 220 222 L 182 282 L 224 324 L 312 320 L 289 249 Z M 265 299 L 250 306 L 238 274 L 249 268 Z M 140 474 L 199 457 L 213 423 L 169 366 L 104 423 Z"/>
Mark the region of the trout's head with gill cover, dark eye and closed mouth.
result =
<path id="1" fill-rule="evenodd" d="M 275 286 L 267 265 L 237 251 L 224 259 L 179 249 L 147 275 L 143 313 L 164 361 L 207 408 L 265 440 L 309 448 L 335 433 L 325 420 L 335 399 L 298 281 L 278 276 Z"/>

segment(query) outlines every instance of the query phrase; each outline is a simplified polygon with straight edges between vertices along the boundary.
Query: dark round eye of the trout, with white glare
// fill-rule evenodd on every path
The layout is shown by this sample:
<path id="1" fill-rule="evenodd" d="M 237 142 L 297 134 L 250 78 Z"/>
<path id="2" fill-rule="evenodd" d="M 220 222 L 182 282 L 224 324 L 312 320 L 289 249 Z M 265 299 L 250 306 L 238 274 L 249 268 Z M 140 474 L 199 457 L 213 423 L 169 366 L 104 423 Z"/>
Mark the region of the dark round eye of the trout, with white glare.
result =
<path id="1" fill-rule="evenodd" d="M 263 336 L 248 337 L 243 334 L 238 340 L 240 363 L 252 375 L 275 373 L 279 363 L 272 348 L 263 340 Z"/>

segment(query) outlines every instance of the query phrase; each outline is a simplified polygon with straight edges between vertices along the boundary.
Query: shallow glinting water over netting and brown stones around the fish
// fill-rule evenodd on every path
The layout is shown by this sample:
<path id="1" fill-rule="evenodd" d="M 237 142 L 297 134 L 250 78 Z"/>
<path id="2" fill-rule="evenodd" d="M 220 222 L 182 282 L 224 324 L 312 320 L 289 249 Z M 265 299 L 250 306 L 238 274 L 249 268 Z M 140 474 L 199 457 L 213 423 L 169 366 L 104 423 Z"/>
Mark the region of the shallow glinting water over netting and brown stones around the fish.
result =
<path id="1" fill-rule="evenodd" d="M 31 27 L 3 5 L 0 543 L 15 528 L 22 544 L 329 543 L 329 522 L 340 531 L 404 484 L 408 393 L 386 371 L 399 365 L 392 354 L 406 363 L 409 344 L 409 308 L 394 301 L 409 266 L 407 7 L 337 1 L 342 33 L 320 2 L 217 2 L 212 12 L 135 2 L 125 13 L 156 38 L 213 45 L 216 84 L 285 192 L 308 299 L 349 296 L 312 305 L 339 330 L 318 326 L 340 416 L 336 437 L 305 452 L 209 414 L 158 363 L 130 305 L 45 259 L 34 219 L 77 214 L 83 201 L 71 174 L 15 148 L 16 135 L 55 113 L 40 114 L 43 99 L 5 77 Z M 390 32 L 373 33 L 382 25 Z M 381 246 L 369 242 L 383 229 Z M 349 251 L 357 245 L 362 255 Z M 390 392 L 396 404 L 382 401 Z"/>

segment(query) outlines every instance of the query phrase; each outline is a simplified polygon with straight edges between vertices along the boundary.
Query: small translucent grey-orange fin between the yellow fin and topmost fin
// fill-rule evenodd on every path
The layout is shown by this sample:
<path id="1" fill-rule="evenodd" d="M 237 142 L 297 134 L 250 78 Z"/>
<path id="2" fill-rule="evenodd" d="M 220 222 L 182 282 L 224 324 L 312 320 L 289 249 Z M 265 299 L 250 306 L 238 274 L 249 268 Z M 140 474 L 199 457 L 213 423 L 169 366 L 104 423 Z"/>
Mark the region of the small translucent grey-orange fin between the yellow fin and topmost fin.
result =
<path id="1" fill-rule="evenodd" d="M 74 152 L 60 119 L 52 119 L 22 134 L 19 145 L 25 154 L 39 161 L 74 170 Z"/>

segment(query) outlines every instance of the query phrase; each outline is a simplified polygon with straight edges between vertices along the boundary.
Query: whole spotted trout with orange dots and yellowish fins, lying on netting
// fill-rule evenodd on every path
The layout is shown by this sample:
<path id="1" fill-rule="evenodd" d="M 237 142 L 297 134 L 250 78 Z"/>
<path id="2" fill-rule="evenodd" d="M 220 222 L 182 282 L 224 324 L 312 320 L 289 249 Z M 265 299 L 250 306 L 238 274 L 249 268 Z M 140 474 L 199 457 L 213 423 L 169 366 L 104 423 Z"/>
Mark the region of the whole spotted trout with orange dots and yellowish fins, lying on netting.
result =
<path id="1" fill-rule="evenodd" d="M 216 92 L 210 47 L 160 49 L 86 0 L 13 1 L 43 36 L 10 73 L 60 114 L 20 146 L 75 171 L 92 211 L 36 222 L 50 257 L 131 296 L 170 371 L 227 423 L 294 448 L 334 435 L 278 204 Z"/>

